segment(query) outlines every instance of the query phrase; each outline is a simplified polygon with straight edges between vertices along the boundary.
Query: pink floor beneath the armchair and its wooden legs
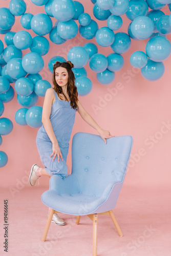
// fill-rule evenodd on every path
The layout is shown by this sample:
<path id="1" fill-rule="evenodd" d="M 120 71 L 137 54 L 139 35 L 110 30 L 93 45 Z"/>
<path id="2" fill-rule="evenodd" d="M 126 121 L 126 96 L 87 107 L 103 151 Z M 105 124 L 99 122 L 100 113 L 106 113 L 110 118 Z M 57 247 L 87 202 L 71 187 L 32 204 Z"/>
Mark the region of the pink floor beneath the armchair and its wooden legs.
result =
<path id="1" fill-rule="evenodd" d="M 41 242 L 47 220 L 47 207 L 41 184 L 15 191 L 1 189 L 0 255 L 8 256 L 91 256 L 92 222 L 81 217 L 60 214 L 65 226 L 51 223 L 47 241 Z M 109 216 L 98 217 L 98 256 L 169 256 L 171 255 L 170 189 L 130 188 L 123 185 L 115 217 L 124 234 L 119 237 Z M 9 204 L 8 253 L 4 251 L 3 201 Z"/>

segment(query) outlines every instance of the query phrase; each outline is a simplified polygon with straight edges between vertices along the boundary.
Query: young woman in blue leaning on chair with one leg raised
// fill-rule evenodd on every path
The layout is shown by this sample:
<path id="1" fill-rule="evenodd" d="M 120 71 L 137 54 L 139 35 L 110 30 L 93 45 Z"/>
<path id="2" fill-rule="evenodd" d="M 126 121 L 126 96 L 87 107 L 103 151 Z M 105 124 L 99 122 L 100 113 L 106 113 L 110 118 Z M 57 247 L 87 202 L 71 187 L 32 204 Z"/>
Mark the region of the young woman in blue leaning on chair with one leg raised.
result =
<path id="1" fill-rule="evenodd" d="M 71 61 L 57 61 L 53 67 L 54 89 L 50 88 L 46 92 L 42 126 L 36 137 L 38 152 L 45 167 L 40 168 L 33 164 L 29 177 L 32 186 L 41 175 L 51 177 L 55 174 L 63 179 L 69 174 L 66 161 L 76 111 L 84 121 L 97 130 L 105 143 L 105 139 L 113 137 L 109 131 L 101 129 L 79 102 L 73 67 Z M 57 225 L 65 224 L 57 214 L 53 215 L 52 221 Z"/>

